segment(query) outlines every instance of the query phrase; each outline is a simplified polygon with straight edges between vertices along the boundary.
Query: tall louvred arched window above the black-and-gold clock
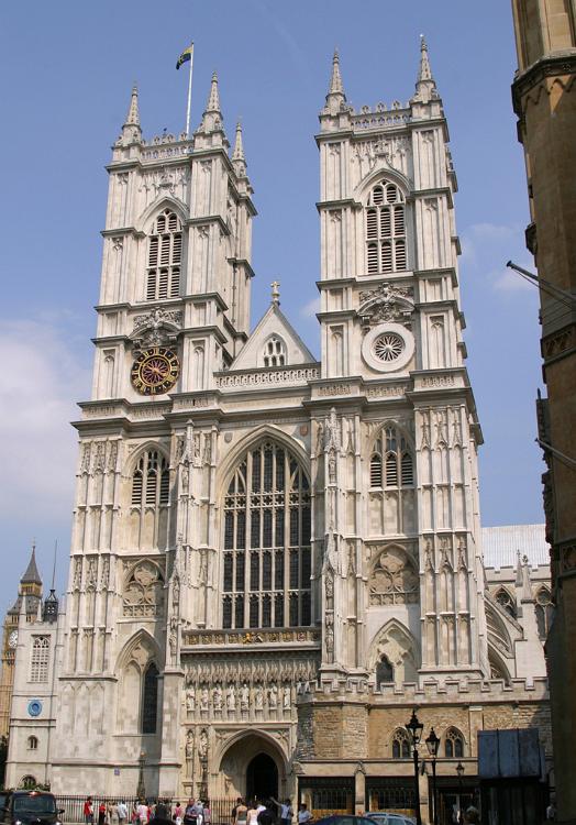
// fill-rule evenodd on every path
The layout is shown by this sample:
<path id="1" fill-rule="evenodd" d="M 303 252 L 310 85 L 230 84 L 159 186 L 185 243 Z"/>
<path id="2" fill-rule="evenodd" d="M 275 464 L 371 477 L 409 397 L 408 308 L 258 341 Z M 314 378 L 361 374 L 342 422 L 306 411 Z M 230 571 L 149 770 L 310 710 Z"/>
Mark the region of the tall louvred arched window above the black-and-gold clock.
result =
<path id="1" fill-rule="evenodd" d="M 177 298 L 180 294 L 182 228 L 177 215 L 158 215 L 148 239 L 146 300 Z"/>

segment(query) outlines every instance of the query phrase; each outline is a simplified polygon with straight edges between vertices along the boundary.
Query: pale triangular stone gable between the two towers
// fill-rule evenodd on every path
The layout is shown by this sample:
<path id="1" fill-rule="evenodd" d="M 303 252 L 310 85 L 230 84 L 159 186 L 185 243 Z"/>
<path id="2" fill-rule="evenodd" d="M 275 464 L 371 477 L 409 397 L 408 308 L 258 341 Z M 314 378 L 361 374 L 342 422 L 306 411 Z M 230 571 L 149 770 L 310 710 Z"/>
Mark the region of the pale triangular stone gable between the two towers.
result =
<path id="1" fill-rule="evenodd" d="M 304 344 L 278 304 L 273 301 L 248 338 L 243 350 L 232 362 L 230 370 L 254 370 L 266 366 L 264 348 L 273 336 L 277 336 L 286 350 L 286 365 L 315 364 L 315 358 Z"/>

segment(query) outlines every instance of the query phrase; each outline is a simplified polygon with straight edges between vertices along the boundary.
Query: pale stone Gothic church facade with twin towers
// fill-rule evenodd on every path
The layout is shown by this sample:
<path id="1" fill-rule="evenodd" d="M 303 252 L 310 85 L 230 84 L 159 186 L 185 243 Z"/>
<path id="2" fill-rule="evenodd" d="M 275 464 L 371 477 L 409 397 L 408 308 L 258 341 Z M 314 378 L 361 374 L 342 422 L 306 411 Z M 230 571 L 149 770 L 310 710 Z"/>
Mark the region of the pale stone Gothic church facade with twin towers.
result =
<path id="1" fill-rule="evenodd" d="M 413 707 L 454 778 L 458 760 L 476 774 L 483 728 L 538 724 L 547 747 L 528 560 L 516 615 L 486 584 L 456 177 L 424 42 L 413 97 L 389 108 L 354 111 L 335 55 L 317 143 L 320 361 L 276 283 L 250 332 L 255 208 L 215 76 L 191 138 L 146 142 L 132 94 L 53 704 L 33 719 L 57 792 L 131 794 L 142 763 L 166 796 L 406 801 Z M 26 656 L 22 635 L 13 784 L 40 690 Z"/>

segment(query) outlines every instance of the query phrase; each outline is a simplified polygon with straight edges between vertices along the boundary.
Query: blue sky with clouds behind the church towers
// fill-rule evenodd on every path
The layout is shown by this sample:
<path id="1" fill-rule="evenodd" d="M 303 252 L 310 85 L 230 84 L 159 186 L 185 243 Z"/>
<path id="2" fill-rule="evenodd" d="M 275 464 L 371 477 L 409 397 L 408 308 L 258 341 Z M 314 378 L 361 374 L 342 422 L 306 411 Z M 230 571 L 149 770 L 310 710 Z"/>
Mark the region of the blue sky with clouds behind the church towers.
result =
<path id="1" fill-rule="evenodd" d="M 468 370 L 486 439 L 480 453 L 485 525 L 538 522 L 543 464 L 534 444 L 541 384 L 538 295 L 505 268 L 529 268 L 523 155 L 510 82 L 510 3 L 484 0 L 124 0 L 3 3 L 0 403 L 4 451 L 0 610 L 13 600 L 33 537 L 48 578 L 59 544 L 58 590 L 69 551 L 77 400 L 89 396 L 110 145 L 140 87 L 144 134 L 179 132 L 196 43 L 192 124 L 211 73 L 220 78 L 229 138 L 241 117 L 254 222 L 253 323 L 281 282 L 283 309 L 318 353 L 319 277 L 313 135 L 334 46 L 356 108 L 413 91 L 419 35 L 450 124 L 458 175 L 461 283 Z"/>

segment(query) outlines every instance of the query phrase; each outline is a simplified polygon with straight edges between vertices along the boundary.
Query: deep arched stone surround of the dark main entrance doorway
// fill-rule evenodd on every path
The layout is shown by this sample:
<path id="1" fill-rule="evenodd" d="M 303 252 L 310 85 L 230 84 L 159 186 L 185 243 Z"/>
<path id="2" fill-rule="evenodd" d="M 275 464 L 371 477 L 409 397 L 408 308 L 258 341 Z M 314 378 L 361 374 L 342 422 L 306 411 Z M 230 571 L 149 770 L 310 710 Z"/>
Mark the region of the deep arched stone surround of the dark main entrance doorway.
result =
<path id="1" fill-rule="evenodd" d="M 246 785 L 247 772 L 254 759 L 259 756 L 269 757 L 277 769 L 278 793 L 277 799 L 286 796 L 286 774 L 288 758 L 284 746 L 275 737 L 265 730 L 245 730 L 234 734 L 221 741 L 214 751 L 214 766 L 218 767 L 220 781 L 224 789 L 233 798 L 244 796 L 250 790 Z"/>

